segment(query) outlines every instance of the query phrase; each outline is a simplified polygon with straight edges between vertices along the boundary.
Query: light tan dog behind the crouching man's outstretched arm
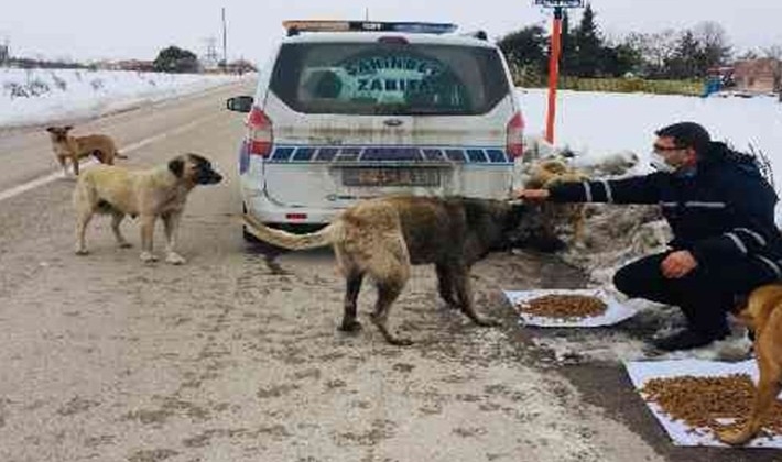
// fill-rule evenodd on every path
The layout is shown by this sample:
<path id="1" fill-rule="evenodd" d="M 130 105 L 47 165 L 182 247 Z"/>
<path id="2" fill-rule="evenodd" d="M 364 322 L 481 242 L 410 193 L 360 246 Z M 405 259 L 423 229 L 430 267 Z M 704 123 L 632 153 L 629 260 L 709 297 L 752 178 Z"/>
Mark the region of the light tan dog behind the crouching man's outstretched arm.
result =
<path id="1" fill-rule="evenodd" d="M 526 189 L 547 189 L 561 183 L 582 183 L 588 180 L 588 176 L 571 167 L 565 161 L 560 158 L 547 158 L 536 162 L 530 172 L 529 179 L 524 183 Z M 573 227 L 574 242 L 582 242 L 584 239 L 584 223 L 586 221 L 584 204 L 542 204 L 545 213 L 554 220 L 564 216 L 564 219 Z"/>

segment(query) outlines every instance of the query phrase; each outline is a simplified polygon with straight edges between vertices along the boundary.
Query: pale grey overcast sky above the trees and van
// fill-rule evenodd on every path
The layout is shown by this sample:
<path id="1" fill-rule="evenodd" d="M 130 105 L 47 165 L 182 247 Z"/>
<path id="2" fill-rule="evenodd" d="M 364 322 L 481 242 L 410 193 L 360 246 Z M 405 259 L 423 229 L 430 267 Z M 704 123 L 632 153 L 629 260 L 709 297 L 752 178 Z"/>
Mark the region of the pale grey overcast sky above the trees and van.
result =
<path id="1" fill-rule="evenodd" d="M 226 7 L 229 58 L 258 61 L 281 37 L 284 19 L 449 21 L 463 31 L 482 29 L 501 36 L 525 25 L 549 28 L 549 14 L 533 0 L 9 0 L 0 11 L 0 42 L 13 54 L 45 57 L 153 58 L 176 44 L 202 54 L 206 38 L 220 37 Z M 684 29 L 699 21 L 720 23 L 736 50 L 782 45 L 780 0 L 593 0 L 604 33 Z M 576 15 L 575 18 L 578 18 Z"/>

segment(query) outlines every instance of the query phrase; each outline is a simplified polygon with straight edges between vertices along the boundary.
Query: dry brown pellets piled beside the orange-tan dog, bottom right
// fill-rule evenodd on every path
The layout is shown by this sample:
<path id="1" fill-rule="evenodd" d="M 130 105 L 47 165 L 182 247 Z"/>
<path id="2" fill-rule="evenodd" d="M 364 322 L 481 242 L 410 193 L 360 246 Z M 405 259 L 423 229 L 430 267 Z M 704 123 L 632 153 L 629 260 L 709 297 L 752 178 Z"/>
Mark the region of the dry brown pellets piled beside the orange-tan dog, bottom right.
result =
<path id="1" fill-rule="evenodd" d="M 743 427 L 752 406 L 754 385 L 747 374 L 725 377 L 685 375 L 653 378 L 645 383 L 641 394 L 647 402 L 656 403 L 672 420 L 683 421 L 692 431 L 721 431 Z M 770 432 L 782 435 L 780 400 L 774 402 L 772 409 L 767 410 L 763 424 Z"/>

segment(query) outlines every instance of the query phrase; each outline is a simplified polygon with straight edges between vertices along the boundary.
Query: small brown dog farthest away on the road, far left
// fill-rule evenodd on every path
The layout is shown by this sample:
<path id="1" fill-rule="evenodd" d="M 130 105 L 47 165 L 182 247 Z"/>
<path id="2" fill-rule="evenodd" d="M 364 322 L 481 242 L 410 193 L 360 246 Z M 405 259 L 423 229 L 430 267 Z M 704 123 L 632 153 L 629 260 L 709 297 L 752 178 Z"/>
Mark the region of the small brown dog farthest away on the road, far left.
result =
<path id="1" fill-rule="evenodd" d="M 72 125 L 50 127 L 46 129 L 52 141 L 52 150 L 63 167 L 63 174 L 68 175 L 67 161 L 73 164 L 74 175 L 79 174 L 79 160 L 95 156 L 100 163 L 113 165 L 115 157 L 128 158 L 117 152 L 111 136 L 105 134 L 91 134 L 86 136 L 73 136 L 68 132 Z"/>

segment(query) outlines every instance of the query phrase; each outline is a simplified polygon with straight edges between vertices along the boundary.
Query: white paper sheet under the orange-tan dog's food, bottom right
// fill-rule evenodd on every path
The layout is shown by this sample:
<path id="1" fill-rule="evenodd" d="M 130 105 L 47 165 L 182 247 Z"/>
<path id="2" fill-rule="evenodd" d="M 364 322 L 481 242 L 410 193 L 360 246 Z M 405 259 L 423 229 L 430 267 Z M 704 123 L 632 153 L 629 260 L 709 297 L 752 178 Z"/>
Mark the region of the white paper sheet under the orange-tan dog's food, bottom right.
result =
<path id="1" fill-rule="evenodd" d="M 730 374 L 749 374 L 752 381 L 758 383 L 758 366 L 754 360 L 739 363 L 725 363 L 717 361 L 700 360 L 677 360 L 677 361 L 629 361 L 624 363 L 628 374 L 636 389 L 643 388 L 644 384 L 652 378 L 672 378 L 683 375 L 692 376 L 728 376 Z M 643 398 L 642 398 L 643 399 Z M 714 446 L 729 448 L 717 440 L 714 433 L 707 429 L 693 429 L 682 421 L 673 421 L 662 411 L 660 406 L 647 403 L 649 409 L 662 424 L 667 435 L 675 446 Z M 729 424 L 729 422 L 725 422 Z M 749 448 L 782 448 L 782 436 L 768 438 L 761 435 L 747 444 Z"/>

